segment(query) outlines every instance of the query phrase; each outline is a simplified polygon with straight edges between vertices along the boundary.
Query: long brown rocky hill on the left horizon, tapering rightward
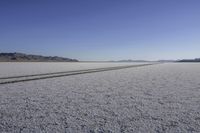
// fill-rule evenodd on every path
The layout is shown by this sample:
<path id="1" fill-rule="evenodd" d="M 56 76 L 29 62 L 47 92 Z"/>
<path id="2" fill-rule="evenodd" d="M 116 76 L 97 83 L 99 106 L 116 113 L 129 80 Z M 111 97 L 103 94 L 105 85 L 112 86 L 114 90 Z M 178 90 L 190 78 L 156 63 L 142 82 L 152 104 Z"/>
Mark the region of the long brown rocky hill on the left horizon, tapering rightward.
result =
<path id="1" fill-rule="evenodd" d="M 0 53 L 0 62 L 77 62 L 57 56 L 28 55 L 24 53 Z"/>

